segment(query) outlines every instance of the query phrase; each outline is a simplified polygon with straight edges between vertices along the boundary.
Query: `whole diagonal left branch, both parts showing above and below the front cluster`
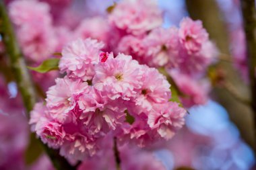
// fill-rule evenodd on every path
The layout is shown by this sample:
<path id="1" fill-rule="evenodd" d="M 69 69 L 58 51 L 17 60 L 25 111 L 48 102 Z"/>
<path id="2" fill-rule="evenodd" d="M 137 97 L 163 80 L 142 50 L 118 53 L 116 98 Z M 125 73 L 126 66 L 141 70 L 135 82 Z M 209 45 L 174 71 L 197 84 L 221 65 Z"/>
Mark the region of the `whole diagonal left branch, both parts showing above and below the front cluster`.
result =
<path id="1" fill-rule="evenodd" d="M 0 21 L 5 50 L 9 56 L 9 65 L 13 71 L 14 79 L 22 95 L 26 114 L 29 118 L 29 112 L 33 109 L 34 103 L 36 103 L 36 91 L 31 81 L 28 69 L 26 68 L 26 62 L 22 57 L 22 52 L 15 40 L 15 34 L 13 32 L 11 22 L 9 21 L 5 4 L 2 0 L 0 1 Z M 69 165 L 64 157 L 59 155 L 59 151 L 49 148 L 46 144 L 43 144 L 41 140 L 40 143 L 42 144 L 46 154 L 49 155 L 56 169 L 75 169 L 75 167 Z"/>

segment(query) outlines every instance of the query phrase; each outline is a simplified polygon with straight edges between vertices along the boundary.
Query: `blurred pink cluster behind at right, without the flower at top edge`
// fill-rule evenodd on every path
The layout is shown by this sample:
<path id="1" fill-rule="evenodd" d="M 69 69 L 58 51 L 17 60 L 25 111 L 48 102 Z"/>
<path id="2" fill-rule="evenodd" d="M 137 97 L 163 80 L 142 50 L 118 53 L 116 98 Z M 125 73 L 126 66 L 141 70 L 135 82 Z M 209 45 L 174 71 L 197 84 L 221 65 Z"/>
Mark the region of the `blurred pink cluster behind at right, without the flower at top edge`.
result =
<path id="1" fill-rule="evenodd" d="M 119 5 L 117 5 L 118 7 Z M 110 16 L 112 15 L 110 14 Z M 132 14 L 130 13 L 130 15 Z M 127 18 L 129 17 L 127 16 Z M 218 50 L 209 40 L 200 21 L 193 21 L 189 17 L 185 17 L 179 28 L 175 26 L 171 28 L 158 27 L 148 30 L 144 34 L 125 34 L 121 36 L 114 51 L 131 54 L 141 64 L 165 68 L 179 87 L 179 91 L 186 95 L 186 99 L 182 100 L 186 100 L 184 103 L 186 107 L 203 104 L 207 101 L 209 88 L 205 87 L 209 86 L 203 77 L 205 77 L 207 67 L 215 62 Z M 179 76 L 186 78 L 175 79 Z M 191 83 L 182 85 L 182 81 L 185 79 Z M 197 81 L 202 83 L 197 83 Z"/>

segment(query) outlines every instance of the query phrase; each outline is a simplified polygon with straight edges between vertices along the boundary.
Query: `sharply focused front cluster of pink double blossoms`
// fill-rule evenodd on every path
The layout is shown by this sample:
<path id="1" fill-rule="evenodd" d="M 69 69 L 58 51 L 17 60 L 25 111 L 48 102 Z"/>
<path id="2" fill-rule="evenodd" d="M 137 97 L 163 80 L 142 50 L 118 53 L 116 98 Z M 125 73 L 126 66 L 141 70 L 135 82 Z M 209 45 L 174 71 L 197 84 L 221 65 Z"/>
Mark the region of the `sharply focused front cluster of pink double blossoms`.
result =
<path id="1" fill-rule="evenodd" d="M 170 84 L 158 70 L 103 46 L 90 38 L 67 44 L 59 63 L 66 76 L 31 113 L 36 134 L 70 161 L 94 155 L 106 134 L 145 146 L 170 139 L 184 124 L 186 110 L 168 101 Z"/>

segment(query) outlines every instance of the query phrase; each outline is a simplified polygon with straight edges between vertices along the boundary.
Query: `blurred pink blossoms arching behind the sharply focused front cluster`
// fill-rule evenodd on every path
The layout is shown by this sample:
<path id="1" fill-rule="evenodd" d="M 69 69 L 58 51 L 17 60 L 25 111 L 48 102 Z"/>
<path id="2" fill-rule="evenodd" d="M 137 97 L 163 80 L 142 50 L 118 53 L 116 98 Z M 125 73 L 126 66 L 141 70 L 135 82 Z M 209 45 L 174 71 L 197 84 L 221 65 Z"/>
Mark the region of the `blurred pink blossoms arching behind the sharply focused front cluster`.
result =
<path id="1" fill-rule="evenodd" d="M 201 21 L 185 17 L 179 28 L 162 28 L 162 11 L 154 0 L 119 1 L 110 7 L 106 16 L 86 18 L 65 7 L 70 1 L 61 5 L 63 18 L 55 17 L 54 11 L 58 10 L 54 10 L 55 5 L 51 1 L 30 1 L 13 1 L 9 13 L 22 50 L 32 65 L 33 62 L 38 65 L 42 60 L 53 56 L 54 52 L 60 51 L 63 45 L 71 40 L 94 38 L 104 42 L 102 50 L 113 51 L 115 55 L 123 52 L 131 55 L 139 64 L 166 69 L 179 91 L 183 93 L 181 101 L 185 107 L 207 101 L 210 86 L 205 81 L 205 71 L 216 60 L 218 50 L 209 40 Z M 39 20 L 42 22 L 37 24 Z M 90 72 L 92 68 L 86 71 Z M 57 77 L 54 72 L 47 74 L 47 77 L 52 78 L 44 79 L 44 76 L 36 73 L 33 73 L 33 77 L 38 84 L 44 84 Z M 92 77 L 89 73 L 87 76 L 89 77 L 84 79 Z M 180 76 L 191 83 L 180 85 L 183 84 L 179 82 L 180 79 L 174 78 Z M 45 86 L 52 84 L 50 82 Z"/>

